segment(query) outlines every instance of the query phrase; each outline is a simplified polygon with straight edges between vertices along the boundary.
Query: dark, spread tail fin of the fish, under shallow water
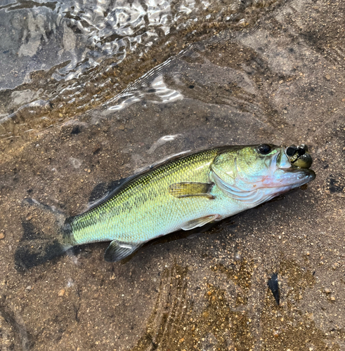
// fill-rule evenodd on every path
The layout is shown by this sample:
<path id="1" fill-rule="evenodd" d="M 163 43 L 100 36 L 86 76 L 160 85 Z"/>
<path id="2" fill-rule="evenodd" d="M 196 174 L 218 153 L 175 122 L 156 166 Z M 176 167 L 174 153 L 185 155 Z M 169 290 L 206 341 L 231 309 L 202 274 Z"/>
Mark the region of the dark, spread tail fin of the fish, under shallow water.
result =
<path id="1" fill-rule="evenodd" d="M 26 199 L 25 204 L 40 208 L 43 211 L 39 219 L 44 223 L 43 227 L 48 227 L 48 232 L 39 229 L 37 225 L 39 220 L 26 218 L 22 220 L 23 235 L 20 239 L 17 249 L 14 253 L 15 269 L 18 271 L 30 270 L 37 265 L 42 265 L 48 260 L 57 259 L 70 249 L 72 246 L 65 241 L 66 233 L 64 233 L 62 225 L 65 220 L 65 214 L 53 206 L 41 204 L 34 199 Z M 47 216 L 47 214 L 53 216 Z M 37 213 L 35 213 L 35 218 Z M 48 225 L 47 225 L 48 223 Z"/>

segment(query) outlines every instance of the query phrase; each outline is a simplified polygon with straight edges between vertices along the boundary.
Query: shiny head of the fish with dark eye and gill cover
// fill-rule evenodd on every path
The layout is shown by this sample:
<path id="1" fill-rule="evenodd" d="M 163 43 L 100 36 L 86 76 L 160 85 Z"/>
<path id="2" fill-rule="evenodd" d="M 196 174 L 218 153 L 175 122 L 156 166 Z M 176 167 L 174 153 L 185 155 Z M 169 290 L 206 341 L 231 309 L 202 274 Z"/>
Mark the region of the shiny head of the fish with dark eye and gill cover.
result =
<path id="1" fill-rule="evenodd" d="M 315 178 L 311 169 L 292 164 L 287 147 L 269 144 L 221 150 L 211 164 L 211 173 L 215 183 L 229 196 L 244 199 L 253 196 L 252 192 L 261 192 L 260 202 Z"/>

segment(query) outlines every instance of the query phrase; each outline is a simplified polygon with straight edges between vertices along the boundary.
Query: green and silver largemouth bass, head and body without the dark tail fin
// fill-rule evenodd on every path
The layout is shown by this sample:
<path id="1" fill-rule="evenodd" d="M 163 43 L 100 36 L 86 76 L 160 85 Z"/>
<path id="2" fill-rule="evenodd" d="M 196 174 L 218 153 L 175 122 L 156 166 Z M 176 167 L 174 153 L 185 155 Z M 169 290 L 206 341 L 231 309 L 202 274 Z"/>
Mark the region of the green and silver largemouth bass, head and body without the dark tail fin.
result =
<path id="1" fill-rule="evenodd" d="M 291 163 L 299 153 L 261 144 L 169 159 L 66 220 L 65 244 L 111 241 L 105 260 L 122 260 L 146 241 L 233 216 L 313 180 L 311 162 L 305 168 Z"/>

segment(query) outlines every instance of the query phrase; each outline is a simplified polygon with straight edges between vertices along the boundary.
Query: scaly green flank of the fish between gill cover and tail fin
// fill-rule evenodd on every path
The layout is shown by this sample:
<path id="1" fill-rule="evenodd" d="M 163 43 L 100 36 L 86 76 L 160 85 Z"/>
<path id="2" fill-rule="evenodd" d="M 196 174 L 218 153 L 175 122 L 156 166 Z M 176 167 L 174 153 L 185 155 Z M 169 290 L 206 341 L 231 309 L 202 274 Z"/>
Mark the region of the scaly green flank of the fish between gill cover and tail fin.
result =
<path id="1" fill-rule="evenodd" d="M 206 208 L 202 211 L 204 205 L 198 206 L 200 199 L 176 199 L 169 194 L 169 185 L 183 181 L 209 182 L 209 164 L 218 151 L 207 150 L 175 159 L 129 180 L 110 199 L 74 218 L 72 244 L 113 239 L 148 241 L 166 234 L 167 230 L 178 229 L 178 222 L 192 219 L 197 207 L 200 216 L 204 215 Z"/>

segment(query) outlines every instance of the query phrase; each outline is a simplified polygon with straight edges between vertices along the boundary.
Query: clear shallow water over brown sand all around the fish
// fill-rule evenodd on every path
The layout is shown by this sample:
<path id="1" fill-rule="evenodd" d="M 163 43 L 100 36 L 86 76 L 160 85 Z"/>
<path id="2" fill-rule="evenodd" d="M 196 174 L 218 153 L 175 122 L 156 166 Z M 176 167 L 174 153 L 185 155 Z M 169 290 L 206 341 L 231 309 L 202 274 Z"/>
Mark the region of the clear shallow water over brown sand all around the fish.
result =
<path id="1" fill-rule="evenodd" d="M 0 350 L 345 350 L 344 14 L 3 1 Z M 122 263 L 105 243 L 47 260 L 56 215 L 25 199 L 73 216 L 171 154 L 263 142 L 306 143 L 317 178 Z"/>

